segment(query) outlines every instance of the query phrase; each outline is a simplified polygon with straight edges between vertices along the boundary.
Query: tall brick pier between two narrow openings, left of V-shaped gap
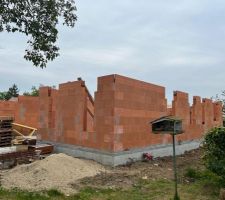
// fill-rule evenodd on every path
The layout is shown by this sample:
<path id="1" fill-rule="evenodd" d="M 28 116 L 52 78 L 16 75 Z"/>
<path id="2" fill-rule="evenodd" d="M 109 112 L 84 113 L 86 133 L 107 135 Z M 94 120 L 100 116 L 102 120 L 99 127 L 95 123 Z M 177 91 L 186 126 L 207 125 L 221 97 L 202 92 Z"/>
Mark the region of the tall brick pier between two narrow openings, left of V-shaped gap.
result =
<path id="1" fill-rule="evenodd" d="M 61 142 L 78 144 L 82 141 L 84 131 L 85 90 L 82 82 L 71 82 L 59 85 L 57 99 L 57 134 Z"/>

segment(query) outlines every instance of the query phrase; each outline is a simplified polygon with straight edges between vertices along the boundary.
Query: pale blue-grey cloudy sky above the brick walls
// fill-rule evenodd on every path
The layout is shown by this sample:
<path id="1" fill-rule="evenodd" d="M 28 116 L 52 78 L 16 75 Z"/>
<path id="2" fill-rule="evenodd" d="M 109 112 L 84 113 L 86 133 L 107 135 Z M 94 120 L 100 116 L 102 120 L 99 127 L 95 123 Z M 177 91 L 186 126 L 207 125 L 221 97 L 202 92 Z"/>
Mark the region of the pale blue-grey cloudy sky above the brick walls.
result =
<path id="1" fill-rule="evenodd" d="M 59 26 L 60 57 L 39 69 L 23 59 L 27 38 L 0 33 L 0 90 L 121 74 L 190 96 L 225 89 L 225 1 L 77 0 L 75 28 Z"/>

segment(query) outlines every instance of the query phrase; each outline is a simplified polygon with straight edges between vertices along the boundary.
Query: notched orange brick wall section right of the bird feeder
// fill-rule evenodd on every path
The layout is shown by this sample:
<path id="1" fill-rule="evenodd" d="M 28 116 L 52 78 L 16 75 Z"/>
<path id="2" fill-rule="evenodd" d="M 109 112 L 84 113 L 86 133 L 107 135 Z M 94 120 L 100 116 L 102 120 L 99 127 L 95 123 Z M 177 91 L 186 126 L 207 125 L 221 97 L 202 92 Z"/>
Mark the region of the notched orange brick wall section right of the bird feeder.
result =
<path id="1" fill-rule="evenodd" d="M 180 91 L 174 92 L 172 115 L 183 120 L 184 133 L 178 140 L 200 139 L 211 128 L 222 125 L 222 104 L 212 102 L 211 99 L 193 97 L 190 107 L 188 94 Z"/>

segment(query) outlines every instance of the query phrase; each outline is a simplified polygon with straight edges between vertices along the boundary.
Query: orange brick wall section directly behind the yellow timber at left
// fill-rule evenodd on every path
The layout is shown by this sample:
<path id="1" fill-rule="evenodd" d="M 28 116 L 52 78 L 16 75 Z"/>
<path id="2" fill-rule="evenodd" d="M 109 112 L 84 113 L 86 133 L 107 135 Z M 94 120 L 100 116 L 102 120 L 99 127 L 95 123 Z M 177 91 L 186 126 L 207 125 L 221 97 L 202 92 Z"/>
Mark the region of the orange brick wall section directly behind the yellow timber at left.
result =
<path id="1" fill-rule="evenodd" d="M 19 96 L 15 107 L 15 122 L 38 128 L 39 97 Z"/>

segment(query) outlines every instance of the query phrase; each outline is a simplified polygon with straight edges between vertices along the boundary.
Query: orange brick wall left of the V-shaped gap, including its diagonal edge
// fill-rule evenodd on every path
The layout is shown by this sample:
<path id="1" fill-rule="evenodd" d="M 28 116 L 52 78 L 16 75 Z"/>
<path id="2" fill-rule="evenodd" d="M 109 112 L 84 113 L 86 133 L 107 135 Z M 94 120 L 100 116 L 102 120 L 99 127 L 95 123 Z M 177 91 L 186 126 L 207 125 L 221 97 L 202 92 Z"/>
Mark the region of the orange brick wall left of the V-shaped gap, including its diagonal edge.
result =
<path id="1" fill-rule="evenodd" d="M 94 101 L 84 81 L 40 88 L 40 109 L 42 140 L 93 147 Z"/>

